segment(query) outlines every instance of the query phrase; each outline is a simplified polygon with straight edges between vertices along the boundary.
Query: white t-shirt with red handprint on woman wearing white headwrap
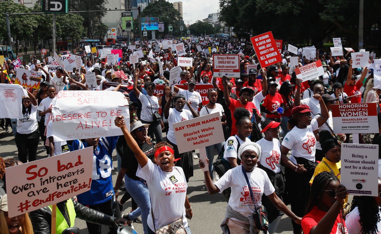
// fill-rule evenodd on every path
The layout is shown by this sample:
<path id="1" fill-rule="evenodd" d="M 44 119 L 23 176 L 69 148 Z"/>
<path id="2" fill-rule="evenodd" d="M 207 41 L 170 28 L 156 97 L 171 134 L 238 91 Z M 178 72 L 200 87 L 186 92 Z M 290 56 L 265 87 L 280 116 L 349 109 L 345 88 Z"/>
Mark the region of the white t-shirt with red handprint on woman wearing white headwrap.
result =
<path id="1" fill-rule="evenodd" d="M 270 195 L 275 192 L 269 176 L 261 168 L 255 167 L 252 172 L 247 172 L 251 189 L 253 191 L 254 202 L 251 199 L 250 191 L 243 175 L 242 166 L 232 168 L 223 175 L 215 185 L 222 193 L 225 189 L 231 187 L 232 192 L 228 204 L 241 215 L 245 217 L 252 216 L 255 213 L 254 205 L 259 208 L 262 205 L 262 195 Z"/>

